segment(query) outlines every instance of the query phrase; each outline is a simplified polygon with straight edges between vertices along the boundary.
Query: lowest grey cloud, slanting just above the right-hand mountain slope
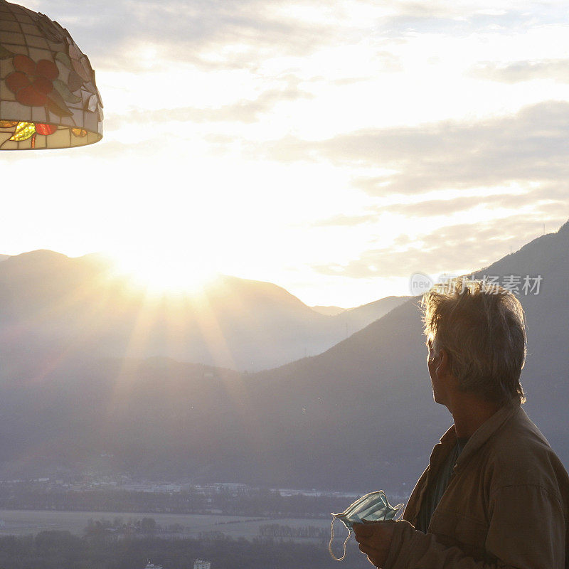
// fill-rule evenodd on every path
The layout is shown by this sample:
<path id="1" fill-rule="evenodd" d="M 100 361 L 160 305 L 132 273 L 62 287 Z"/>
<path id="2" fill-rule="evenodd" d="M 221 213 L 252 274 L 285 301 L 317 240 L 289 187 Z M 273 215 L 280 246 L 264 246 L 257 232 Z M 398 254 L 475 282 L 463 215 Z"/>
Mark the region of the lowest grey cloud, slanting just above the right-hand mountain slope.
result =
<path id="1" fill-rule="evenodd" d="M 548 226 L 561 225 L 559 216 Z M 536 215 L 538 218 L 538 215 Z M 376 248 L 364 251 L 347 265 L 314 264 L 322 275 L 369 279 L 376 277 L 410 277 L 414 272 L 440 275 L 447 270 L 479 270 L 516 248 L 541 235 L 536 218 L 511 217 L 484 223 L 462 223 L 439 228 L 421 238 L 421 243 L 404 251 Z M 403 243 L 405 239 L 403 239 Z"/>

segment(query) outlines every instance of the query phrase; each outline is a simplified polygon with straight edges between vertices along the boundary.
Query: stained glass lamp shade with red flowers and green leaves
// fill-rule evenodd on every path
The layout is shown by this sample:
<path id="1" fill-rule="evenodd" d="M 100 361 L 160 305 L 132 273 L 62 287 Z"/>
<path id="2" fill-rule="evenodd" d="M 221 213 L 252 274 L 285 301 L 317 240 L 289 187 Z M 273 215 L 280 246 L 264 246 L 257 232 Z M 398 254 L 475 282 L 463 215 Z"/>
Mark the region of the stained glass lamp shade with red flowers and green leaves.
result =
<path id="1" fill-rule="evenodd" d="M 92 144 L 102 118 L 95 72 L 69 32 L 0 0 L 0 150 Z"/>

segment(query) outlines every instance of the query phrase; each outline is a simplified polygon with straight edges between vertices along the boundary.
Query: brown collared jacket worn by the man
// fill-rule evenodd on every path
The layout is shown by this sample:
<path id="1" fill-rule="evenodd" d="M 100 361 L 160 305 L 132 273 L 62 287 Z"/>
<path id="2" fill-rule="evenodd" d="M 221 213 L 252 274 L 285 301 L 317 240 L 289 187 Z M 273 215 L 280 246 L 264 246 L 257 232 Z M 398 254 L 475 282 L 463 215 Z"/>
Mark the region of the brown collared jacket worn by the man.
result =
<path id="1" fill-rule="evenodd" d="M 427 533 L 415 530 L 427 484 L 455 442 L 453 425 L 395 522 L 383 567 L 568 569 L 569 477 L 517 401 L 469 438 Z"/>

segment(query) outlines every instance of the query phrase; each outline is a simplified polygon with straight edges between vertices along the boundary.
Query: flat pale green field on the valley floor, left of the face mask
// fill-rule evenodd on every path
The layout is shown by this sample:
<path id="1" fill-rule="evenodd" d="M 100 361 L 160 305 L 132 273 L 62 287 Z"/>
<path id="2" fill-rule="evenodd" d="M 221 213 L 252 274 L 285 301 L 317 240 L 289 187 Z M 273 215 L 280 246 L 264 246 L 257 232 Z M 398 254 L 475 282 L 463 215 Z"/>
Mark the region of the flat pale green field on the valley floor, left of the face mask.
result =
<path id="1" fill-rule="evenodd" d="M 39 533 L 46 530 L 70 531 L 77 536 L 83 535 L 83 530 L 90 519 L 95 521 L 106 519 L 113 521 L 122 518 L 124 523 L 136 521 L 144 517 L 154 518 L 156 523 L 165 528 L 179 524 L 184 531 L 174 535 L 197 538 L 200 533 L 220 531 L 233 538 L 251 539 L 259 536 L 259 526 L 278 523 L 281 526 L 294 528 L 315 526 L 329 530 L 330 520 L 327 519 L 262 519 L 248 516 L 200 516 L 192 514 L 121 514 L 101 511 L 35 511 L 35 510 L 0 510 L 0 536 L 23 536 L 29 533 Z M 338 524 L 337 531 L 344 535 Z M 344 528 L 345 531 L 345 528 Z"/>

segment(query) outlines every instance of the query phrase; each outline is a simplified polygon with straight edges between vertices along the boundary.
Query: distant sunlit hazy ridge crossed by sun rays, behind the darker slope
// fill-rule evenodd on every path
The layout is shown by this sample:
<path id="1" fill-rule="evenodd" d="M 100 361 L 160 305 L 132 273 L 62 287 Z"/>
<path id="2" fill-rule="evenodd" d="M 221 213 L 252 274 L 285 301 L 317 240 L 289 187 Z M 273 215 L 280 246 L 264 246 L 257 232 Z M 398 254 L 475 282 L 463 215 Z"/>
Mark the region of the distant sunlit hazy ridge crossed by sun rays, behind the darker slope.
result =
<path id="1" fill-rule="evenodd" d="M 282 287 L 230 276 L 198 299 L 149 298 L 100 255 L 47 250 L 1 262 L 0 285 L 0 353 L 164 356 L 248 371 L 321 353 L 403 302 L 328 317 Z"/>

